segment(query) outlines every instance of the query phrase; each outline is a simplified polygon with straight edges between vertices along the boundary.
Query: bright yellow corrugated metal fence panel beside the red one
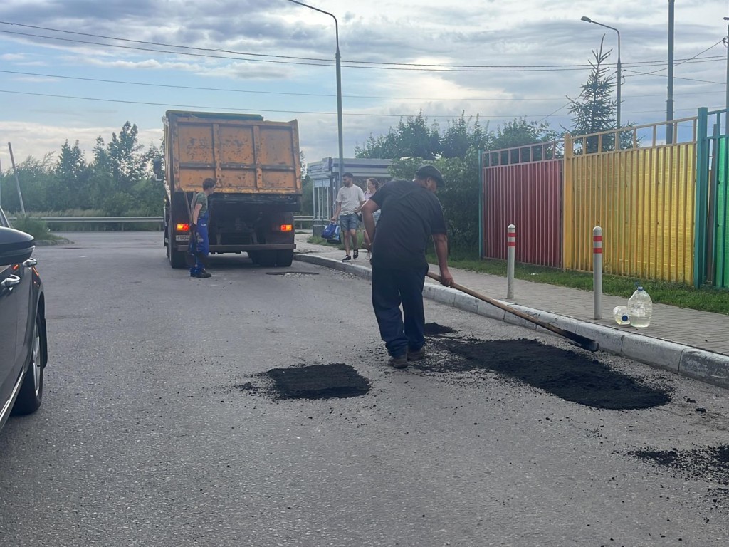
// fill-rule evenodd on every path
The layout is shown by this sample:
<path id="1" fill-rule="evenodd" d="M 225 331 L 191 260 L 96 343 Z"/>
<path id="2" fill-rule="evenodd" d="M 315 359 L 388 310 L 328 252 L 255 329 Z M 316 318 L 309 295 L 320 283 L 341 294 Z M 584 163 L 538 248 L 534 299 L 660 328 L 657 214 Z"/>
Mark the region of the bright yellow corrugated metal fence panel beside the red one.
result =
<path id="1" fill-rule="evenodd" d="M 693 283 L 695 141 L 574 155 L 565 144 L 564 268 Z"/>

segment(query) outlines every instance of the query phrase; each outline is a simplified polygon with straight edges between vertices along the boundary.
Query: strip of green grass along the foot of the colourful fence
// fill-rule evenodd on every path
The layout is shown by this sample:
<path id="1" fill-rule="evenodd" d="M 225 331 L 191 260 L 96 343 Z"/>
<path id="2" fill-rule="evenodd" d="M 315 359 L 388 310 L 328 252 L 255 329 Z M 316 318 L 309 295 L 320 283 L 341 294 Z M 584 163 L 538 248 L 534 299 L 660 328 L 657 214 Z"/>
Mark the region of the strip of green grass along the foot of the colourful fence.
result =
<path id="1" fill-rule="evenodd" d="M 434 254 L 428 255 L 428 261 L 437 264 Z M 506 260 L 481 259 L 475 254 L 451 251 L 448 265 L 461 270 L 475 271 L 480 274 L 506 277 Z M 515 264 L 514 277 L 535 283 L 569 287 L 571 289 L 593 290 L 593 274 L 580 271 L 562 271 L 558 268 L 546 268 L 530 264 Z M 602 292 L 605 295 L 621 296 L 627 303 L 635 291 L 635 283 L 640 281 L 653 302 L 689 308 L 699 311 L 713 311 L 717 314 L 729 315 L 729 291 L 702 287 L 694 289 L 685 284 L 650 281 L 623 276 L 602 276 Z"/>

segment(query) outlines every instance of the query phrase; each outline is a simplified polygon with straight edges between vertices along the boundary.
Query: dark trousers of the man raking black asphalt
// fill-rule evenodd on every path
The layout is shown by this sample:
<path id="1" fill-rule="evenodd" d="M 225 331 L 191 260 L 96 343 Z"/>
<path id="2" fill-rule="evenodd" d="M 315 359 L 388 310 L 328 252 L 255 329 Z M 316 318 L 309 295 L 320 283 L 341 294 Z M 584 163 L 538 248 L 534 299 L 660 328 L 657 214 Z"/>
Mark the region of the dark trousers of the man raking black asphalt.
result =
<path id="1" fill-rule="evenodd" d="M 417 351 L 425 344 L 423 285 L 427 271 L 427 266 L 405 270 L 372 267 L 372 305 L 380 336 L 392 357 L 402 357 L 408 348 Z"/>

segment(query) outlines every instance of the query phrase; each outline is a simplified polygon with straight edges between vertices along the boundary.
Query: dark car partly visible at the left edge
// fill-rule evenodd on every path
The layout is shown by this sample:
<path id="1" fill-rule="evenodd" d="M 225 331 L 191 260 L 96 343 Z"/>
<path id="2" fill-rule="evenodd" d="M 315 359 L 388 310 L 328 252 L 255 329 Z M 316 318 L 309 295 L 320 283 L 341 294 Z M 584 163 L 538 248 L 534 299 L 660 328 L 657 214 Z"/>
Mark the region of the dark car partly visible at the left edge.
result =
<path id="1" fill-rule="evenodd" d="M 48 360 L 43 285 L 33 236 L 13 230 L 0 209 L 0 427 L 11 412 L 41 406 Z"/>

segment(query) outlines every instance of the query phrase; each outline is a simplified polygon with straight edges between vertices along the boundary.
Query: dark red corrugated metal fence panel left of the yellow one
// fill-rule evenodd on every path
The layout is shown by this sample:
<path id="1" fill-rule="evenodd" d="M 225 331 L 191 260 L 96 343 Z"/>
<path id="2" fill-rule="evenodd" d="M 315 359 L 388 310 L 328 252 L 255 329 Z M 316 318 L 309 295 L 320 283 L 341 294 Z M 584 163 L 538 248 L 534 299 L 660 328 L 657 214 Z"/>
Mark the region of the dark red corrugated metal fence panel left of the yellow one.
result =
<path id="1" fill-rule="evenodd" d="M 507 257 L 507 228 L 519 234 L 516 261 L 562 265 L 563 160 L 483 169 L 483 241 L 486 258 Z"/>

